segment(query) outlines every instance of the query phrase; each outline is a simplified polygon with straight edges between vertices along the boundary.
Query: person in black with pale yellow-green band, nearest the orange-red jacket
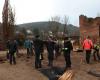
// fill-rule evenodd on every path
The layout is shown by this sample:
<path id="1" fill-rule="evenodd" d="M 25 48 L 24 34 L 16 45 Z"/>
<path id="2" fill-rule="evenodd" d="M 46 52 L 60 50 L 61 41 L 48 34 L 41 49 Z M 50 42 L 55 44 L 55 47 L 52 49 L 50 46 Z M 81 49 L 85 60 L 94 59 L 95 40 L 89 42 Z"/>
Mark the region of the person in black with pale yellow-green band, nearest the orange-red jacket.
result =
<path id="1" fill-rule="evenodd" d="M 72 43 L 69 40 L 68 37 L 64 38 L 64 58 L 65 58 L 65 62 L 66 62 L 66 69 L 67 68 L 71 68 L 71 57 L 70 57 L 70 53 L 71 50 L 73 49 Z"/>

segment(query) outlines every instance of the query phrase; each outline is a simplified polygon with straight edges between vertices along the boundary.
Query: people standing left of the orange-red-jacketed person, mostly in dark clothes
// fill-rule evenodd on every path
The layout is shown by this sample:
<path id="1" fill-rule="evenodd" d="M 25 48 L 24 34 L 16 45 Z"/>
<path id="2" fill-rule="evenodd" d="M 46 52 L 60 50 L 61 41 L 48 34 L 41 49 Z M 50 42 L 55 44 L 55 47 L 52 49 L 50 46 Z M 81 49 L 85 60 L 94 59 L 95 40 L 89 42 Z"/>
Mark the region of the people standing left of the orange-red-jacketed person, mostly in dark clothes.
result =
<path id="1" fill-rule="evenodd" d="M 64 51 L 64 58 L 66 61 L 66 68 L 71 67 L 71 60 L 70 60 L 70 51 L 73 49 L 72 44 L 68 37 L 64 38 L 64 48 L 62 49 Z M 48 52 L 48 66 L 53 67 L 53 60 L 54 57 L 57 58 L 58 55 L 60 55 L 59 48 L 60 45 L 58 44 L 57 40 L 54 40 L 53 37 L 49 36 L 48 40 L 41 40 L 39 35 L 36 35 L 35 38 L 31 41 L 29 39 L 26 39 L 24 42 L 24 47 L 27 49 L 27 58 L 30 57 L 32 54 L 32 50 L 34 49 L 34 55 L 35 55 L 35 68 L 41 68 L 42 64 L 41 61 L 43 59 L 43 51 L 44 46 L 47 49 Z M 9 53 L 9 62 L 10 64 L 14 63 L 16 64 L 16 58 L 15 53 L 18 50 L 18 43 L 13 38 L 7 41 L 7 49 Z M 54 53 L 55 51 L 55 53 Z"/>

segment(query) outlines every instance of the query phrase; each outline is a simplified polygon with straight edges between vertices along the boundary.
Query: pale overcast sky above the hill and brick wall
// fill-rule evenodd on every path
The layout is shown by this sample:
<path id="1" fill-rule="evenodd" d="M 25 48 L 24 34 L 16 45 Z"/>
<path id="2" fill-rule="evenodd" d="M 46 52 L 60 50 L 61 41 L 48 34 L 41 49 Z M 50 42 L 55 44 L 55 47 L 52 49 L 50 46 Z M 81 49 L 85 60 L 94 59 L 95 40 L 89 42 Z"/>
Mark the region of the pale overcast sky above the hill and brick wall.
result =
<path id="1" fill-rule="evenodd" d="M 0 0 L 0 22 L 5 0 Z M 100 14 L 100 0 L 10 0 L 15 10 L 15 23 L 49 21 L 59 16 L 61 22 L 68 17 L 69 24 L 79 26 L 79 15 L 96 17 Z"/>

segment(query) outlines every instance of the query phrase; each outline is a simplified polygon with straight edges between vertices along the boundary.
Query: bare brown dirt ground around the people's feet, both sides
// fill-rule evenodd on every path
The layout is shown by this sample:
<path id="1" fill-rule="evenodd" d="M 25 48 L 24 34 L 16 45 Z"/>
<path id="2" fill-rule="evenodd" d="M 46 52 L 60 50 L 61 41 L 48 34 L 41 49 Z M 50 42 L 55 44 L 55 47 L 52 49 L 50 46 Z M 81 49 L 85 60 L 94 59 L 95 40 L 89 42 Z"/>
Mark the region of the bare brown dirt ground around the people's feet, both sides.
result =
<path id="1" fill-rule="evenodd" d="M 5 51 L 0 52 L 0 59 L 5 59 Z M 26 50 L 20 50 L 20 58 L 17 58 L 16 65 L 10 65 L 8 61 L 0 60 L 0 80 L 48 80 L 41 72 L 34 68 L 34 56 L 26 58 Z M 44 55 L 47 54 L 46 51 Z M 74 80 L 100 80 L 100 78 L 88 74 L 91 69 L 100 70 L 100 62 L 94 62 L 91 58 L 91 64 L 84 61 L 84 53 L 72 54 L 72 70 L 74 71 Z M 47 58 L 42 61 L 43 67 L 47 67 Z M 54 66 L 63 67 L 65 64 L 63 56 L 54 61 Z"/>

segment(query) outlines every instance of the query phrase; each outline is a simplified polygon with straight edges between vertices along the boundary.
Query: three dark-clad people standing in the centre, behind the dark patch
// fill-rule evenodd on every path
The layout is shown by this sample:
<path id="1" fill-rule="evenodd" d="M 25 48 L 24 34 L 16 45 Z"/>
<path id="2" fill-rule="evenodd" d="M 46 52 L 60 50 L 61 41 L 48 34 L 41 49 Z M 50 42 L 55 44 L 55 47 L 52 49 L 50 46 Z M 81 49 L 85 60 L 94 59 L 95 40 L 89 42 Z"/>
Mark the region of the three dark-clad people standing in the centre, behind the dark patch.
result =
<path id="1" fill-rule="evenodd" d="M 54 60 L 54 50 L 56 57 L 59 55 L 59 45 L 57 46 L 56 41 L 53 40 L 52 37 L 49 37 L 47 41 L 42 41 L 39 39 L 39 36 L 36 36 L 36 39 L 33 41 L 34 42 L 34 51 L 35 51 L 35 68 L 41 68 L 41 52 L 43 51 L 43 45 L 46 46 L 47 51 L 48 51 L 48 66 L 53 67 L 53 60 Z M 68 37 L 64 38 L 64 43 L 63 43 L 63 52 L 64 52 L 64 58 L 66 68 L 71 68 L 71 58 L 70 58 L 70 53 L 71 50 L 73 50 L 73 46 L 71 41 L 69 40 Z"/>

